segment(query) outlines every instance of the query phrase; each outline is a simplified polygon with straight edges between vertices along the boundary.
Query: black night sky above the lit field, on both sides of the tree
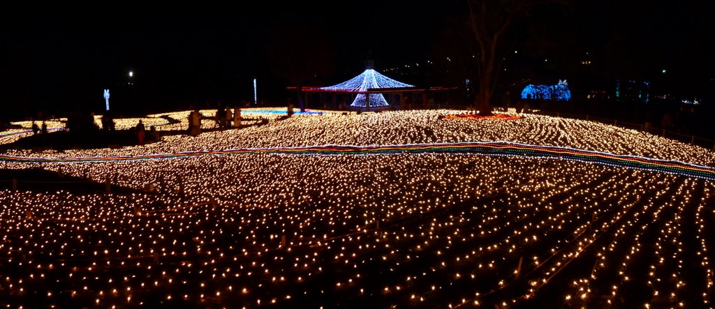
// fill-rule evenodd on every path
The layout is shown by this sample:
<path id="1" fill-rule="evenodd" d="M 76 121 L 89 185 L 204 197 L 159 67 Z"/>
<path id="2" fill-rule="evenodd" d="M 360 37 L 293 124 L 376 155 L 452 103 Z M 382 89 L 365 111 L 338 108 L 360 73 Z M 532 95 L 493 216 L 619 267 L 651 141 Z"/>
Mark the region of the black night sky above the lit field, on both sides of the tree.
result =
<path id="1" fill-rule="evenodd" d="M 589 52 L 613 76 L 668 69 L 699 83 L 715 77 L 715 26 L 706 4 L 574 2 L 525 16 L 510 43 L 535 63 Z M 131 101 L 124 89 L 130 70 L 144 106 L 250 100 L 252 78 L 276 88 L 291 83 L 283 73 L 295 59 L 281 59 L 285 54 L 319 54 L 323 62 L 310 64 L 320 66 L 314 82 L 324 86 L 359 74 L 368 58 L 379 70 L 449 54 L 440 36 L 465 10 L 454 0 L 242 5 L 6 10 L 0 104 L 20 116 L 101 111 L 103 88 L 116 91 L 117 104 Z"/>

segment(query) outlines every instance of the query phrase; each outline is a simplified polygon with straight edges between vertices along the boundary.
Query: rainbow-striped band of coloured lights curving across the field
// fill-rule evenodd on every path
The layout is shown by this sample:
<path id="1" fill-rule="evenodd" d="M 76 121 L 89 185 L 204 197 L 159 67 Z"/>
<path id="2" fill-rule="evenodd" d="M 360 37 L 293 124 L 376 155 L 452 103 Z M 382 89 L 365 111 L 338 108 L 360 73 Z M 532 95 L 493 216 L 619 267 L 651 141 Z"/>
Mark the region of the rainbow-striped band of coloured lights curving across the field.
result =
<path id="1" fill-rule="evenodd" d="M 387 146 L 305 146 L 285 148 L 237 148 L 217 151 L 186 151 L 179 153 L 154 153 L 140 156 L 89 156 L 89 157 L 25 157 L 0 155 L 0 161 L 18 163 L 91 163 L 114 161 L 157 160 L 171 158 L 189 158 L 194 156 L 220 156 L 245 153 L 275 153 L 304 155 L 378 155 L 391 153 L 447 153 L 480 154 L 487 156 L 522 156 L 535 158 L 554 158 L 560 160 L 596 163 L 605 166 L 633 168 L 645 171 L 658 171 L 681 176 L 715 180 L 715 168 L 698 166 L 681 161 L 668 161 L 641 156 L 624 156 L 598 151 L 586 151 L 576 148 L 539 146 L 508 141 L 467 142 L 467 143 L 424 143 Z"/>

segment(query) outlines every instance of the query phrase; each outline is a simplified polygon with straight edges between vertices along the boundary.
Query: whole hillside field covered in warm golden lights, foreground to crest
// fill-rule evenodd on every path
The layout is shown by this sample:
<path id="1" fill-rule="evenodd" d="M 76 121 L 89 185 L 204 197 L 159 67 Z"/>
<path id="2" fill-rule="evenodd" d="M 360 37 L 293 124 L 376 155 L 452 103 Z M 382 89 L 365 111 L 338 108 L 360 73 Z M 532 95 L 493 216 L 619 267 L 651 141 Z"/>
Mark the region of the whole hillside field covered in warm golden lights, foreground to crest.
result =
<path id="1" fill-rule="evenodd" d="M 705 178 L 618 160 L 458 151 L 50 160 L 506 141 L 706 171 L 715 161 L 703 148 L 588 121 L 446 117 L 463 112 L 280 120 L 263 108 L 242 111 L 270 119 L 263 126 L 147 146 L 8 151 L 47 161 L 1 168 L 40 167 L 145 193 L 0 191 L 0 305 L 711 307 L 715 194 Z M 180 122 L 162 126 L 164 115 Z M 185 129 L 187 115 L 144 123 Z M 117 119 L 117 127 L 137 121 Z"/>

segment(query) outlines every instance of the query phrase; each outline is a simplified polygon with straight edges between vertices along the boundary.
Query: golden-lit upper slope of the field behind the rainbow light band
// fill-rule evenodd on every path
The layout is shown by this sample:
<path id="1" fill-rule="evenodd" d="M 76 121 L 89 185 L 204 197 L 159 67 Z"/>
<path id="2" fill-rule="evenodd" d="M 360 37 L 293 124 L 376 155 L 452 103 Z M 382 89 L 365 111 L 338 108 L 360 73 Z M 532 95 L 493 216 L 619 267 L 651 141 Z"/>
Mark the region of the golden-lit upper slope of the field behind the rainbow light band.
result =
<path id="1" fill-rule="evenodd" d="M 260 108 L 265 109 L 265 108 Z M 285 110 L 282 108 L 280 110 Z M 205 116 L 216 110 L 200 111 Z M 251 113 L 242 109 L 245 117 L 275 120 L 280 113 Z M 295 115 L 281 121 L 270 121 L 266 126 L 202 133 L 197 137 L 167 136 L 162 143 L 119 149 L 65 151 L 54 156 L 134 156 L 146 153 L 175 153 L 180 151 L 220 150 L 228 148 L 262 148 L 315 145 L 395 145 L 405 143 L 454 143 L 463 141 L 513 141 L 546 146 L 567 146 L 589 151 L 603 151 L 618 155 L 644 156 L 677 160 L 699 165 L 714 163 L 712 151 L 654 136 L 637 130 L 618 128 L 603 123 L 523 114 L 514 121 L 445 120 L 442 116 L 464 111 L 385 111 L 362 115 L 324 113 Z M 168 113 L 179 123 L 157 126 L 157 129 L 185 130 L 189 111 Z M 144 123 L 164 123 L 160 115 L 141 118 Z M 153 119 L 152 119 L 153 118 Z M 117 119 L 117 127 L 136 126 L 139 118 Z M 149 122 L 153 123 L 153 122 Z M 204 128 L 214 121 L 204 120 Z M 3 140 L 0 140 L 4 142 Z M 6 154 L 33 156 L 29 151 L 10 150 Z M 1 164 L 1 163 L 0 163 Z M 1 166 L 0 166 L 1 167 Z"/>

